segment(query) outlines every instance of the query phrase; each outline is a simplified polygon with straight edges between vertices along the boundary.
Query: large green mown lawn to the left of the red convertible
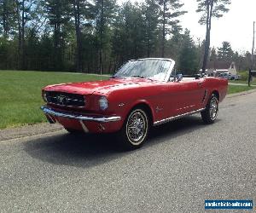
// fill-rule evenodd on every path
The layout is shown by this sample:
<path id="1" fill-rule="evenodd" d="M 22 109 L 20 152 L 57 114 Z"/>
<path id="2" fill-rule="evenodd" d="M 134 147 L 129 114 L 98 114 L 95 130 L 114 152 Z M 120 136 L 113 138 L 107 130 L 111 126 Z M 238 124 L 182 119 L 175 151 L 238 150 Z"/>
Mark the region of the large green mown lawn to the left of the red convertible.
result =
<path id="1" fill-rule="evenodd" d="M 0 130 L 45 122 L 39 107 L 41 89 L 49 84 L 84 82 L 100 77 L 63 72 L 0 71 Z"/>

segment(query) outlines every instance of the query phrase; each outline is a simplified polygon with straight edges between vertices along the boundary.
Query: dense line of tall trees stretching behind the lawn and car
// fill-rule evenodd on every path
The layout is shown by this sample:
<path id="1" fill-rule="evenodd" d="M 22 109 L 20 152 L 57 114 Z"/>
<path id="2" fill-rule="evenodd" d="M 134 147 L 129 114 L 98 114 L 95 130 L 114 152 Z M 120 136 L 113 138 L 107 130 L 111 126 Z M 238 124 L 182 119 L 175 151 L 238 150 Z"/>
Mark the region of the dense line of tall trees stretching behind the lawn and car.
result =
<path id="1" fill-rule="evenodd" d="M 185 13 L 180 0 L 0 0 L 0 69 L 112 73 L 127 60 L 166 57 L 194 73 L 205 41 L 179 25 Z M 224 42 L 207 60 L 247 70 L 250 59 Z"/>

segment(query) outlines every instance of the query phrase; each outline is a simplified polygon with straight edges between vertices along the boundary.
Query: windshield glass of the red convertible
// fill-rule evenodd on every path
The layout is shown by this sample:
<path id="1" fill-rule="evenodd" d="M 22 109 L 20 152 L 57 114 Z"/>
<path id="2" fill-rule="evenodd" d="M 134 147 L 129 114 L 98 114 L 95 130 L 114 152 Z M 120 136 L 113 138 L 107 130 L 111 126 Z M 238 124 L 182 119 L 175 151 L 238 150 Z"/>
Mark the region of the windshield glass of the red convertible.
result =
<path id="1" fill-rule="evenodd" d="M 171 65 L 170 60 L 130 60 L 113 77 L 164 81 Z"/>

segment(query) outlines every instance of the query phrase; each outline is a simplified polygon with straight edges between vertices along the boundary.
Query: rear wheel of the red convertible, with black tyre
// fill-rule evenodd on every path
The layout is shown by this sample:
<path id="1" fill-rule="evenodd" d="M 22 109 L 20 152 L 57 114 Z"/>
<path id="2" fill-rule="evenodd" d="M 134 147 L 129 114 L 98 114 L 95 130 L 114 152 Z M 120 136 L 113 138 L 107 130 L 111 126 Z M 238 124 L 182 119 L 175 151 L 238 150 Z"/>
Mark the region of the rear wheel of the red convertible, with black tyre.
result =
<path id="1" fill-rule="evenodd" d="M 213 124 L 218 117 L 218 98 L 212 95 L 206 109 L 201 112 L 201 118 L 206 124 Z"/>

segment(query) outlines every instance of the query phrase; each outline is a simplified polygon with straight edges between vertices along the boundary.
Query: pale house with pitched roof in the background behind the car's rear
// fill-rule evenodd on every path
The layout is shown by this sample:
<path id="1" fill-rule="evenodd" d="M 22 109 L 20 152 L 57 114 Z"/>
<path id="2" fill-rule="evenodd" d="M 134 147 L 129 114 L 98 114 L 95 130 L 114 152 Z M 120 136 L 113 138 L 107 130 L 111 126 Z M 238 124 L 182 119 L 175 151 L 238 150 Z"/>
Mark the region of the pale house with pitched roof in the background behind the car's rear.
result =
<path id="1" fill-rule="evenodd" d="M 231 75 L 237 75 L 236 63 L 225 62 L 221 60 L 209 61 L 206 74 L 208 76 L 218 77 L 219 74 L 229 72 Z"/>

